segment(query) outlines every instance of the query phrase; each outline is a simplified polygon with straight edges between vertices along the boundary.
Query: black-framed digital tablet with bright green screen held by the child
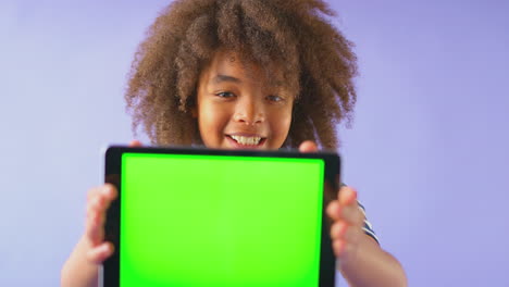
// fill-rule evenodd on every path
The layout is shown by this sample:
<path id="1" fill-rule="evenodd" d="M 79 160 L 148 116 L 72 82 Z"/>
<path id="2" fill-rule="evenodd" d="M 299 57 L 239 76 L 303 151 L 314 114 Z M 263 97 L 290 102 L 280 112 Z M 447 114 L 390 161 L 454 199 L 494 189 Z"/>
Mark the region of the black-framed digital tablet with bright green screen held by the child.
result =
<path id="1" fill-rule="evenodd" d="M 334 286 L 335 153 L 110 147 L 105 287 Z M 328 195 L 328 196 L 327 196 Z M 330 199 L 330 198 L 328 198 Z"/>

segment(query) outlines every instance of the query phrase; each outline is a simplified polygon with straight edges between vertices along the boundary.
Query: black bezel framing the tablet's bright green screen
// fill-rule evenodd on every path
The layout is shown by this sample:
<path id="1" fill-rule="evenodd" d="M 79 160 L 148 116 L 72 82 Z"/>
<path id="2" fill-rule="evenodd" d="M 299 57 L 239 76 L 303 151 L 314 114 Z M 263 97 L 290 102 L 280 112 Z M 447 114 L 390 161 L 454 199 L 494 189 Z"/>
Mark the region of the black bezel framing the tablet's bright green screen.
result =
<path id="1" fill-rule="evenodd" d="M 101 284 L 103 287 L 119 287 L 120 269 L 120 198 L 121 187 L 121 161 L 125 152 L 134 153 L 171 153 L 171 154 L 208 154 L 208 155 L 236 155 L 236 157 L 269 157 L 269 158 L 298 158 L 298 159 L 322 159 L 325 163 L 324 171 L 324 204 L 322 212 L 322 240 L 320 254 L 319 287 L 334 286 L 335 284 L 335 257 L 332 250 L 330 237 L 330 220 L 325 214 L 325 207 L 336 195 L 339 187 L 340 158 L 332 152 L 302 153 L 298 151 L 252 151 L 252 150 L 216 150 L 204 148 L 163 148 L 163 147 L 126 147 L 112 146 L 105 151 L 104 183 L 112 184 L 119 190 L 117 198 L 111 203 L 107 211 L 105 240 L 115 246 L 112 257 L 103 262 Z"/>

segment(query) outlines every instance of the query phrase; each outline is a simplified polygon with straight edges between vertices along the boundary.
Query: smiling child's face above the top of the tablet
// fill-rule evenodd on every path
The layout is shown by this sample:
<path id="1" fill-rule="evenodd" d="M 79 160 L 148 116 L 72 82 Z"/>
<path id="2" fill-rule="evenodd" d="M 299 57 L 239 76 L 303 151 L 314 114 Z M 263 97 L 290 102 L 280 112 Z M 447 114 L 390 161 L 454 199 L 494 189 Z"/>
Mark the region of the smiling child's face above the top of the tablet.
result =
<path id="1" fill-rule="evenodd" d="M 259 66 L 220 51 L 199 78 L 194 113 L 203 144 L 219 149 L 273 150 L 283 146 L 294 95 L 271 85 Z M 281 82 L 278 82 L 281 83 Z"/>

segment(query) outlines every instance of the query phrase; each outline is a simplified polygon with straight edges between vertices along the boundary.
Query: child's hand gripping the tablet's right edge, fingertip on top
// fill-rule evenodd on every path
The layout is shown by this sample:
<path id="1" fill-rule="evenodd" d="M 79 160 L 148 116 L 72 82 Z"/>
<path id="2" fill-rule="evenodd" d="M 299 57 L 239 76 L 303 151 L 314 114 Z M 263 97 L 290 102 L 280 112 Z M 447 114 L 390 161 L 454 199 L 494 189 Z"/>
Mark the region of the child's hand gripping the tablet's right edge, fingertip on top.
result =
<path id="1" fill-rule="evenodd" d="M 300 145 L 299 151 L 315 152 L 318 148 L 307 140 Z M 363 236 L 364 214 L 357 203 L 357 191 L 351 187 L 342 187 L 337 199 L 328 203 L 326 212 L 333 220 L 331 238 L 334 253 L 339 260 L 348 260 L 356 253 Z"/>

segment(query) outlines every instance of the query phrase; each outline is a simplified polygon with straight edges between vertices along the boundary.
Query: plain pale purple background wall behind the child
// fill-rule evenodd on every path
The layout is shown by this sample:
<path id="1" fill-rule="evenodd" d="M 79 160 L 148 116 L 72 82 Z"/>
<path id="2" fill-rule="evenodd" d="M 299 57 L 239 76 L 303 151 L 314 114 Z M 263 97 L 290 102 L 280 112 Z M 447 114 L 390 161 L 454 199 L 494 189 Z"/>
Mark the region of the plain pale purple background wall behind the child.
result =
<path id="1" fill-rule="evenodd" d="M 345 182 L 410 286 L 509 286 L 509 3 L 331 1 L 356 42 Z M 163 1 L 0 2 L 0 286 L 57 286 Z M 142 140 L 146 140 L 141 138 Z"/>

